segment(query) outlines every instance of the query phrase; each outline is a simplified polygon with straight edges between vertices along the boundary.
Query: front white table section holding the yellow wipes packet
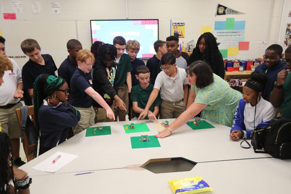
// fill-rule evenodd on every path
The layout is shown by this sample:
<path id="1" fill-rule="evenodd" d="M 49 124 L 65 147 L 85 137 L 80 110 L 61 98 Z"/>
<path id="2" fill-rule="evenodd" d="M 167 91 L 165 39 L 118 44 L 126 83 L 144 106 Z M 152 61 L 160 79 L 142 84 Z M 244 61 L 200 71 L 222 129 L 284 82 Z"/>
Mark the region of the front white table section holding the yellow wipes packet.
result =
<path id="1" fill-rule="evenodd" d="M 169 180 L 201 176 L 212 194 L 290 193 L 291 160 L 242 159 L 196 164 L 191 171 L 155 174 L 135 167 L 32 176 L 31 193 L 172 194 Z"/>

